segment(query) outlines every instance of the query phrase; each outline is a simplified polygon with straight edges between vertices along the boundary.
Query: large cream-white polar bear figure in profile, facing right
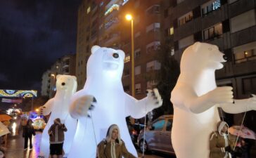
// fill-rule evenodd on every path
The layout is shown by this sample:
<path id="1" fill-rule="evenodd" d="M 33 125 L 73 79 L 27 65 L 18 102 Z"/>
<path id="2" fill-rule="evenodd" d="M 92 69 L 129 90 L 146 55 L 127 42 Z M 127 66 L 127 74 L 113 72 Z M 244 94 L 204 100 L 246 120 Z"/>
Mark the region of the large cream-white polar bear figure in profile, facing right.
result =
<path id="1" fill-rule="evenodd" d="M 225 112 L 256 110 L 254 98 L 234 100 L 232 88 L 217 87 L 215 70 L 223 67 L 224 54 L 212 44 L 196 42 L 181 57 L 181 73 L 171 94 L 174 105 L 172 145 L 177 158 L 210 157 L 210 133 Z"/>

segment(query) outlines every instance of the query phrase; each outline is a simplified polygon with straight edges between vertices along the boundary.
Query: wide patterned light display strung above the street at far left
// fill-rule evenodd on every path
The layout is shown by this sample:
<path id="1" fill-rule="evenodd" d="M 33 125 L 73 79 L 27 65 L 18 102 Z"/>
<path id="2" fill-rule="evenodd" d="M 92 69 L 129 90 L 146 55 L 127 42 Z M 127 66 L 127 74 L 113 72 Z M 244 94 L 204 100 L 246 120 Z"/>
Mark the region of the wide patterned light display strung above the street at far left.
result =
<path id="1" fill-rule="evenodd" d="M 37 97 L 37 91 L 23 91 L 23 90 L 4 90 L 0 89 L 0 97 Z"/>

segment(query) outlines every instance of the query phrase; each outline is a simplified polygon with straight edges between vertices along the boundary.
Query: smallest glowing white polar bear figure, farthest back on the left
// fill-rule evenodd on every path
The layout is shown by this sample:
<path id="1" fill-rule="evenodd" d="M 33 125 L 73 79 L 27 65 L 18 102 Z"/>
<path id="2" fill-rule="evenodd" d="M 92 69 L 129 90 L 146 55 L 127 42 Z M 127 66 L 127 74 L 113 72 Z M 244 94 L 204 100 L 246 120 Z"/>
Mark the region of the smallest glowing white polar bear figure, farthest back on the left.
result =
<path id="1" fill-rule="evenodd" d="M 51 112 L 49 121 L 42 133 L 40 143 L 39 155 L 45 158 L 49 157 L 50 143 L 48 130 L 53 124 L 54 119 L 60 118 L 61 123 L 65 124 L 68 129 L 68 131 L 65 132 L 65 141 L 63 144 L 63 150 L 66 155 L 70 151 L 71 143 L 77 128 L 77 120 L 73 119 L 69 113 L 71 96 L 77 91 L 77 78 L 75 76 L 58 74 L 56 79 L 56 95 L 41 107 L 44 115 L 50 114 Z"/>

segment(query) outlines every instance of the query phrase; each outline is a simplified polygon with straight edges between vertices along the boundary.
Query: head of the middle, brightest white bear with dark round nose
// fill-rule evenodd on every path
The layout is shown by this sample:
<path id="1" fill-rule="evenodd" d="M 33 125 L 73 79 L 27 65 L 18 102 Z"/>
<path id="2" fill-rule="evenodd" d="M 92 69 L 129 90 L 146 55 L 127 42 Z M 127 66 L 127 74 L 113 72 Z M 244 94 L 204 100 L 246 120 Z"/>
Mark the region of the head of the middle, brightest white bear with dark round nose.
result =
<path id="1" fill-rule="evenodd" d="M 113 48 L 93 46 L 87 62 L 87 77 L 121 79 L 124 68 L 124 52 Z"/>

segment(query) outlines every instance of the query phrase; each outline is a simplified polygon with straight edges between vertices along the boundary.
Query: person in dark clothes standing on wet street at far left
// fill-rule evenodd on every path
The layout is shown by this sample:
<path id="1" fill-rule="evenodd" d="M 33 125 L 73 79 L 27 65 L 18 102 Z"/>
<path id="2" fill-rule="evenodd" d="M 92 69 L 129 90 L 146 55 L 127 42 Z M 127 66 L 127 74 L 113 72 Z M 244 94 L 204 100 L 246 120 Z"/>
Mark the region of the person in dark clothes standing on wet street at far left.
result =
<path id="1" fill-rule="evenodd" d="M 32 126 L 32 119 L 27 120 L 27 125 L 23 129 L 23 138 L 25 139 L 24 141 L 24 150 L 27 150 L 27 142 L 28 139 L 30 139 L 30 150 L 32 150 L 32 135 L 36 135 L 34 132 L 34 126 Z"/>

